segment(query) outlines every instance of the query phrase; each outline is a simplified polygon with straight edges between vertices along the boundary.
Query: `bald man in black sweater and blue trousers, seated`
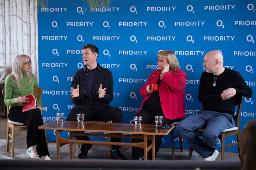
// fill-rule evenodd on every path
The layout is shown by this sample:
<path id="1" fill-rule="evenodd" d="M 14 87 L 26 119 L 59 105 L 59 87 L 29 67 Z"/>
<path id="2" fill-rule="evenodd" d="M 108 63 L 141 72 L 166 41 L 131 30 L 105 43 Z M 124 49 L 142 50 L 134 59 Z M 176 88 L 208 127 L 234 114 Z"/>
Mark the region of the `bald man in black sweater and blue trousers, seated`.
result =
<path id="1" fill-rule="evenodd" d="M 201 75 L 198 90 L 202 110 L 183 119 L 177 124 L 176 131 L 200 154 L 199 160 L 213 161 L 219 154 L 216 148 L 220 132 L 235 125 L 236 96 L 251 98 L 252 89 L 239 72 L 223 67 L 223 57 L 217 50 L 206 53 L 203 66 L 205 72 Z M 195 134 L 202 128 L 205 128 L 204 142 Z"/>

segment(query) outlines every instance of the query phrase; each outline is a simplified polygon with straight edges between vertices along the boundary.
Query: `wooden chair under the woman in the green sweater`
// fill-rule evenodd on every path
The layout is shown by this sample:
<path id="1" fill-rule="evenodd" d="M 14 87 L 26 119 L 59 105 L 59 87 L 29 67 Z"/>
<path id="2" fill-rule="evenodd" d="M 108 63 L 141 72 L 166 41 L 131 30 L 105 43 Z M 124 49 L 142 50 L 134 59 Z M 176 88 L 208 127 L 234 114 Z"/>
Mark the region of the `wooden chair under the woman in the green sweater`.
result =
<path id="1" fill-rule="evenodd" d="M 39 95 L 41 95 L 42 89 L 39 87 L 34 88 L 34 94 L 35 98 Z M 4 89 L 2 90 L 2 95 L 4 96 Z M 25 126 L 23 123 L 20 122 L 13 122 L 8 118 L 9 114 L 9 106 L 6 105 L 6 110 L 7 110 L 7 133 L 6 133 L 6 152 L 9 151 L 9 143 L 10 143 L 10 138 L 12 139 L 12 154 L 11 157 L 14 157 L 14 140 L 15 140 L 15 132 L 16 131 L 21 131 L 21 130 L 28 130 L 27 126 Z M 43 119 L 43 122 L 45 124 L 47 120 Z M 12 129 L 12 133 L 11 133 Z M 46 142 L 48 146 L 48 141 L 47 141 L 47 136 L 46 136 L 46 130 L 45 131 L 45 137 L 46 137 Z"/>

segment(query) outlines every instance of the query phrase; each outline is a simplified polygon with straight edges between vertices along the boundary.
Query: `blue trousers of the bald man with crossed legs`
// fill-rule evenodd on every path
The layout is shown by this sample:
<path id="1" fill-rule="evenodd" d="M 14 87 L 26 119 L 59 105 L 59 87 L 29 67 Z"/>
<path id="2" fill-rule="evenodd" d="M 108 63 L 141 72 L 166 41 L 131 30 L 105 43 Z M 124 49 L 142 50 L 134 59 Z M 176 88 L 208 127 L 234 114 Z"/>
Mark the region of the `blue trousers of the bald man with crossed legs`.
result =
<path id="1" fill-rule="evenodd" d="M 233 116 L 227 113 L 200 110 L 176 126 L 177 133 L 203 158 L 212 156 L 217 148 L 218 136 L 224 129 L 235 126 Z M 195 131 L 205 128 L 202 141 Z"/>

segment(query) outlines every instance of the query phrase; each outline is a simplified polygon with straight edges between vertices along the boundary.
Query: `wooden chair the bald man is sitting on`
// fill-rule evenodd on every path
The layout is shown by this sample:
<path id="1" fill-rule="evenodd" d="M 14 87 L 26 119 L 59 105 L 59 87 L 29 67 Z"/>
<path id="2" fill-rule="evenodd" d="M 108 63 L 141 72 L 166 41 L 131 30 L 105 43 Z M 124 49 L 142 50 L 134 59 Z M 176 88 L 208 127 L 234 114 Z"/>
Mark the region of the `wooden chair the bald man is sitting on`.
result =
<path id="1" fill-rule="evenodd" d="M 236 115 L 233 116 L 233 119 L 234 119 L 236 125 L 233 128 L 223 130 L 219 135 L 219 139 L 221 140 L 221 152 L 220 152 L 221 153 L 221 160 L 224 160 L 225 148 L 228 148 L 230 146 L 235 146 L 235 145 L 238 145 L 238 153 L 239 153 L 239 158 L 241 160 L 241 153 L 240 153 L 240 151 L 241 151 L 240 115 L 241 115 L 243 98 L 244 98 L 244 96 L 237 96 L 236 97 L 236 105 L 238 105 L 238 108 L 237 108 Z M 195 133 L 198 136 L 202 136 L 203 132 L 204 132 L 204 129 L 199 129 Z M 233 136 L 233 135 L 236 135 L 237 142 L 225 145 L 225 137 Z M 189 154 L 188 154 L 188 159 L 189 160 L 192 157 L 192 152 L 193 152 L 193 149 L 190 147 L 189 148 Z"/>

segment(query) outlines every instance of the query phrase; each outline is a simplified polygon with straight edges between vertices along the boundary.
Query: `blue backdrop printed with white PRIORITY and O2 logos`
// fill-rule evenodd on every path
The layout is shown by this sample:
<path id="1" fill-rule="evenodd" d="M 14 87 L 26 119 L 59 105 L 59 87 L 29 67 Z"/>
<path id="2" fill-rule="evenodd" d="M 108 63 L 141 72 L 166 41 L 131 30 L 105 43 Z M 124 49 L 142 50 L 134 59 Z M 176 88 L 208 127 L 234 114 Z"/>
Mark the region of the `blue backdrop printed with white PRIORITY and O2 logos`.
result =
<path id="1" fill-rule="evenodd" d="M 140 87 L 158 69 L 160 50 L 172 50 L 187 73 L 187 116 L 201 108 L 198 85 L 208 51 L 219 50 L 224 67 L 239 71 L 254 91 L 255 7 L 255 0 L 114 0 L 109 8 L 90 11 L 81 0 L 48 0 L 47 7 L 38 10 L 39 86 L 42 106 L 48 107 L 43 117 L 52 121 L 58 112 L 64 113 L 64 120 L 68 116 L 74 106 L 72 77 L 84 66 L 81 48 L 89 43 L 100 50 L 98 63 L 113 74 L 110 105 L 123 111 L 124 123 L 134 123 L 133 116 L 141 107 Z M 254 96 L 244 98 L 241 128 L 256 117 L 253 100 Z M 55 141 L 55 135 L 47 131 L 48 140 Z M 61 135 L 68 137 L 68 132 Z M 163 137 L 161 146 L 171 147 L 170 135 Z M 178 138 L 175 146 L 179 147 Z M 185 142 L 184 148 L 189 148 Z M 237 147 L 227 150 L 237 152 Z"/>

